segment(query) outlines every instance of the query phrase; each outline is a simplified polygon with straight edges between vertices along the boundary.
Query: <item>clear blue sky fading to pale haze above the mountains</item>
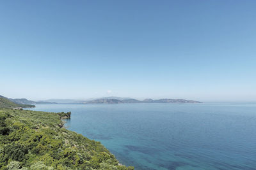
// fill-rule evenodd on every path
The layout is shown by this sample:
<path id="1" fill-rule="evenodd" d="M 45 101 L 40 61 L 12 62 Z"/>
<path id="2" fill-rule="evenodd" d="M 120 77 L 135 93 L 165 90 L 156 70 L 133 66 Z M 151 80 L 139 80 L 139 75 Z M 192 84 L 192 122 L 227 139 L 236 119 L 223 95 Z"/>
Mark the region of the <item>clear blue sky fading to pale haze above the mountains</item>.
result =
<path id="1" fill-rule="evenodd" d="M 256 101 L 256 1 L 1 1 L 0 95 Z"/>

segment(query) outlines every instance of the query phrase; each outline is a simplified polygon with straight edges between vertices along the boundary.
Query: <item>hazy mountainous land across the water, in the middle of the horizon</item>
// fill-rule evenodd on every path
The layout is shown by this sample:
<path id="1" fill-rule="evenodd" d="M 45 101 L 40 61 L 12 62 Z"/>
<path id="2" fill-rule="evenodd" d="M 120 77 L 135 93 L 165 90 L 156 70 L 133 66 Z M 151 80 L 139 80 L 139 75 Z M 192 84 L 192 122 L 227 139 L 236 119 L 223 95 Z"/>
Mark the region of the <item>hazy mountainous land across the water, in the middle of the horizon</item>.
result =
<path id="1" fill-rule="evenodd" d="M 185 99 L 145 99 L 143 101 L 139 101 L 137 99 L 111 99 L 104 97 L 102 99 L 95 99 L 92 101 L 87 101 L 85 104 L 119 104 L 119 103 L 202 103 L 200 101 L 192 101 Z"/>

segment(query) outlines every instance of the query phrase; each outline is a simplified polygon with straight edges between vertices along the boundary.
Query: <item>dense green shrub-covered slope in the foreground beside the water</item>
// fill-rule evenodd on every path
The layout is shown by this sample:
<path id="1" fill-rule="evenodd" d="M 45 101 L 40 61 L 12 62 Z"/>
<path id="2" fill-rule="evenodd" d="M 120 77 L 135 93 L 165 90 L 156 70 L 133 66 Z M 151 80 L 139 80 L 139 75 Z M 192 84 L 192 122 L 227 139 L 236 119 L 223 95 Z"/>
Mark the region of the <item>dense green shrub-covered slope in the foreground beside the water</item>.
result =
<path id="1" fill-rule="evenodd" d="M 0 109 L 0 169 L 134 169 L 119 166 L 100 142 L 63 128 L 61 117 L 70 113 Z"/>

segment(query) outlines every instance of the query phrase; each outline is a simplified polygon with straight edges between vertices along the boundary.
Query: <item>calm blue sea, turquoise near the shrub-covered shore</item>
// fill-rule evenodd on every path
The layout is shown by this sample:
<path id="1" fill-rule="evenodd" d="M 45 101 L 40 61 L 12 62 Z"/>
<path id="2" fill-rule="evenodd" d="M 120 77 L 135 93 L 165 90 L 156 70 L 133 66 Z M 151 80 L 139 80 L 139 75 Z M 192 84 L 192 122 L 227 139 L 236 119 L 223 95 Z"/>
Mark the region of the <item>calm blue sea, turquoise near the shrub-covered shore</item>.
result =
<path id="1" fill-rule="evenodd" d="M 256 104 L 38 104 L 135 169 L 256 169 Z"/>

